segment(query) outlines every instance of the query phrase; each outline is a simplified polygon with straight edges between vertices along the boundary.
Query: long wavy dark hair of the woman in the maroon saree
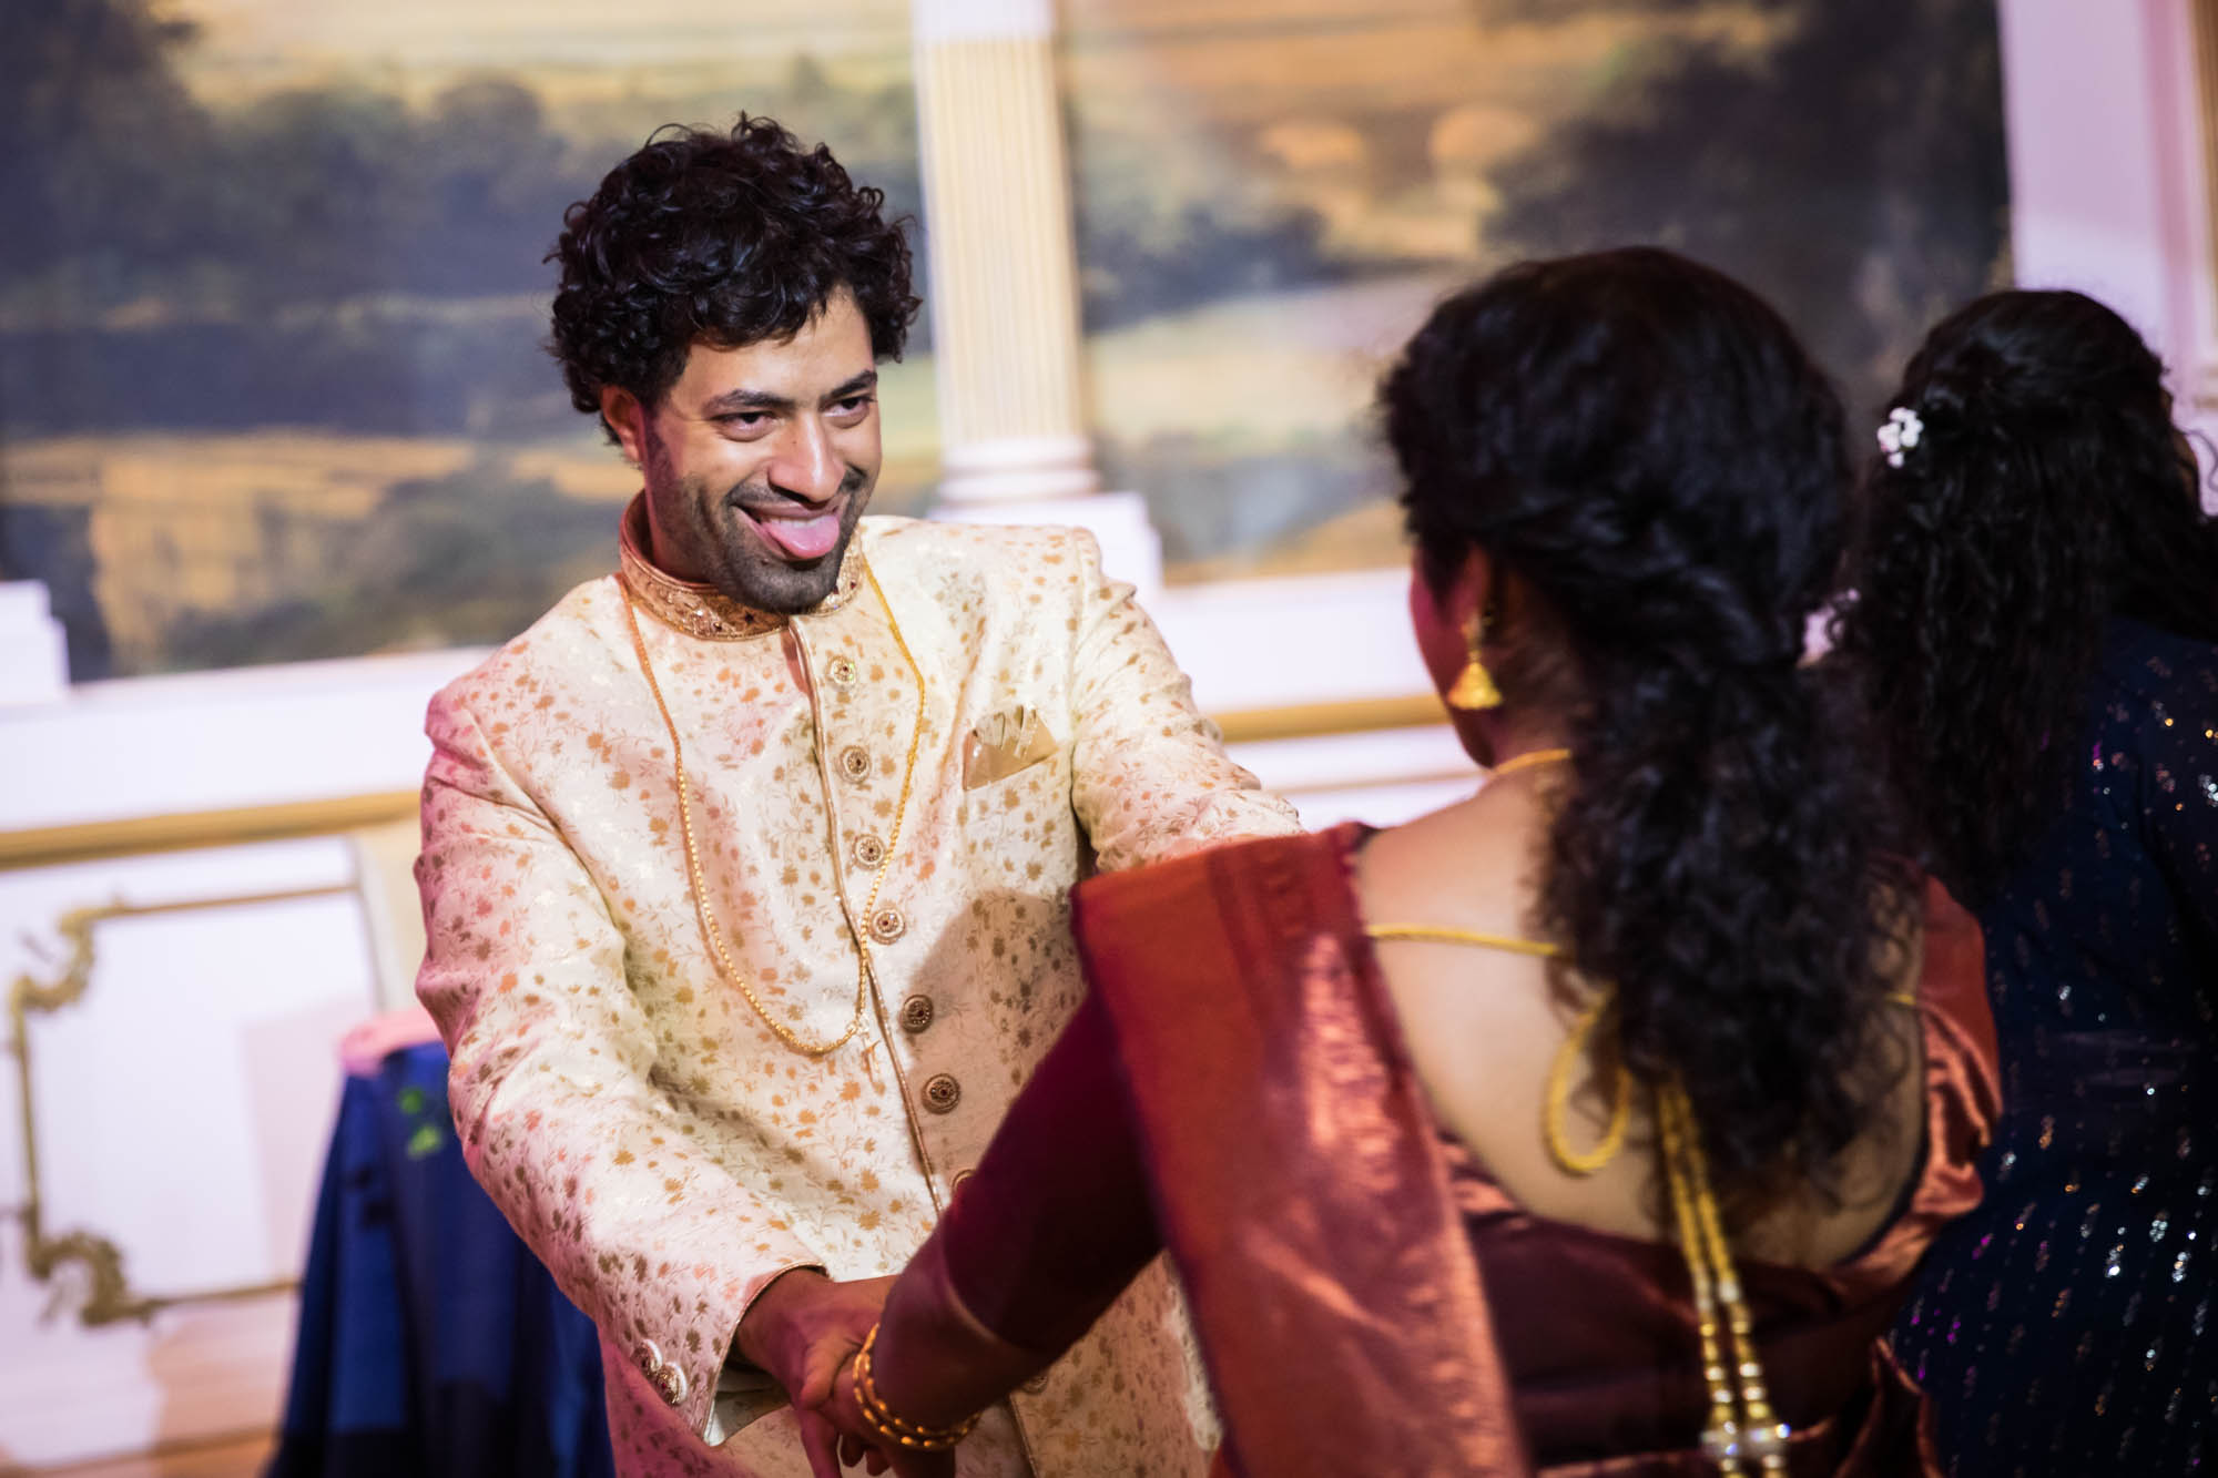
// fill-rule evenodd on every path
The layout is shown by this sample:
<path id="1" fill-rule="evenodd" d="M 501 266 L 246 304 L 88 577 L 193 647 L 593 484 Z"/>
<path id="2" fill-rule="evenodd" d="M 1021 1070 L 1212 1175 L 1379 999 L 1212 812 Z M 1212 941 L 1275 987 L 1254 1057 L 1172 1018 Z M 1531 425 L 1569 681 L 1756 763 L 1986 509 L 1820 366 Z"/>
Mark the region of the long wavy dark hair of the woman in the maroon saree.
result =
<path id="1" fill-rule="evenodd" d="M 1510 644 L 1570 668 L 1559 988 L 1615 985 L 1604 1054 L 1681 1079 L 1737 1221 L 1839 1194 L 1905 1065 L 1881 1012 L 1916 894 L 1854 695 L 1799 666 L 1848 517 L 1830 382 L 1741 284 L 1626 249 L 1451 297 L 1382 399 L 1428 584 L 1482 548 L 1546 613 Z"/>

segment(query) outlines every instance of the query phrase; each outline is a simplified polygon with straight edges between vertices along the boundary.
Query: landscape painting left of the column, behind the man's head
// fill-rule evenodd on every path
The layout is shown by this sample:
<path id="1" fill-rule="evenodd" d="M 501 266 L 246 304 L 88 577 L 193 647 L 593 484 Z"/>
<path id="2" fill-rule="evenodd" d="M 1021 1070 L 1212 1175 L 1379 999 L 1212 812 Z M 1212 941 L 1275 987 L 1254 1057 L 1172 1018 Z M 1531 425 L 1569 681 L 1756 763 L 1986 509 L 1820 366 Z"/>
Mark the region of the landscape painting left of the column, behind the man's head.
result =
<path id="1" fill-rule="evenodd" d="M 752 13 L 750 13 L 752 11 Z M 11 0 L 0 575 L 71 677 L 501 641 L 637 475 L 541 348 L 563 209 L 794 120 L 916 211 L 901 0 Z M 936 470 L 887 384 L 881 506 Z"/>

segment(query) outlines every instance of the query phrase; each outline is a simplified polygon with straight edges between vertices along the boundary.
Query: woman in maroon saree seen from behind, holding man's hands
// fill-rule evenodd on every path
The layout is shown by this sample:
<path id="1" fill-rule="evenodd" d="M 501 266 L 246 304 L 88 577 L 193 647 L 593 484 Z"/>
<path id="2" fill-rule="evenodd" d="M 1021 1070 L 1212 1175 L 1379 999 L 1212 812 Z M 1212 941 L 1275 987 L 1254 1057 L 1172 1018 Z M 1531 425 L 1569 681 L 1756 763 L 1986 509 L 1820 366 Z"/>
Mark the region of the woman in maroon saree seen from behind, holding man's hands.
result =
<path id="1" fill-rule="evenodd" d="M 1799 666 L 1832 391 L 1626 251 L 1453 297 L 1384 399 L 1490 781 L 1085 883 L 1093 994 L 827 1409 L 954 1471 L 1167 1249 L 1229 1474 L 1939 1471 L 1879 1336 L 1978 1201 L 1994 1041 Z"/>

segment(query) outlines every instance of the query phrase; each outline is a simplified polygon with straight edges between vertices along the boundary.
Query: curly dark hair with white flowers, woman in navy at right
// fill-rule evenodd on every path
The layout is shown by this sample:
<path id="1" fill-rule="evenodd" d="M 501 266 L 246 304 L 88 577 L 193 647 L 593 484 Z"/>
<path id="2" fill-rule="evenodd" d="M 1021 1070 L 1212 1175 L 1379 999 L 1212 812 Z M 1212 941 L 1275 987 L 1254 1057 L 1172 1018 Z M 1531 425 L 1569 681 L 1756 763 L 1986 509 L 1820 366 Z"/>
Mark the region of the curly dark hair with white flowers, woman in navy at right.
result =
<path id="1" fill-rule="evenodd" d="M 1970 903 L 2063 806 L 2109 617 L 2218 641 L 2218 522 L 2165 366 L 2083 293 L 1990 293 L 1943 320 L 1872 457 L 1837 617 L 1934 870 Z"/>

